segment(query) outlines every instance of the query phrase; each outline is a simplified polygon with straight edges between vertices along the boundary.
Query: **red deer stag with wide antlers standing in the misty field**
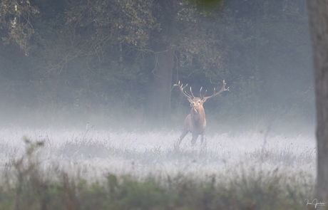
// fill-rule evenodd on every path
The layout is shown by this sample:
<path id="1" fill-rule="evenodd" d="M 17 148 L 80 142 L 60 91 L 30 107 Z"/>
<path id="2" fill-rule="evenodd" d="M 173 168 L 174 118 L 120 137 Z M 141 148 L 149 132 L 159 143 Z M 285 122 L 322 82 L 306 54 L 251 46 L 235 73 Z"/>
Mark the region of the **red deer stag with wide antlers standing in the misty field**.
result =
<path id="1" fill-rule="evenodd" d="M 214 97 L 215 95 L 219 95 L 220 93 L 229 90 L 229 88 L 225 88 L 225 80 L 223 80 L 223 85 L 222 88 L 219 92 L 215 93 L 215 88 L 214 88 L 214 93 L 211 96 L 205 97 L 205 94 L 207 90 L 205 90 L 205 94 L 202 95 L 202 88 L 200 88 L 200 98 L 196 98 L 193 95 L 193 91 L 191 90 L 190 87 L 190 94 L 188 94 L 184 89 L 187 87 L 187 85 L 183 86 L 183 84 L 180 85 L 180 81 L 178 84 L 175 84 L 174 86 L 179 86 L 180 92 L 187 97 L 187 99 L 190 102 L 190 114 L 185 117 L 185 122 L 183 123 L 183 132 L 180 135 L 179 139 L 179 145 L 182 142 L 183 138 L 185 135 L 188 134 L 188 132 L 191 132 L 193 134 L 193 139 L 191 140 L 191 144 L 195 145 L 195 142 L 198 138 L 198 135 L 201 135 L 201 141 L 203 143 L 204 137 L 205 137 L 205 129 L 206 129 L 206 119 L 205 119 L 205 110 L 203 107 L 203 103 L 209 98 Z"/>

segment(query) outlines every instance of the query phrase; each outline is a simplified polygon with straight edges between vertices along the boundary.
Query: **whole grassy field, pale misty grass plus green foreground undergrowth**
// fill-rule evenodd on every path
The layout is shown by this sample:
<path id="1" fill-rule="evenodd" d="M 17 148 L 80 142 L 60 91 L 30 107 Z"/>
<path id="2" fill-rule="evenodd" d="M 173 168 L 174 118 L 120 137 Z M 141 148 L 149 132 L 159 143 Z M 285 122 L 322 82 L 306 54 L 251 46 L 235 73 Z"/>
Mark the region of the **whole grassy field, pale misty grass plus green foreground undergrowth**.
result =
<path id="1" fill-rule="evenodd" d="M 307 135 L 0 130 L 0 209 L 310 209 Z M 324 209 L 327 206 L 317 206 Z"/>

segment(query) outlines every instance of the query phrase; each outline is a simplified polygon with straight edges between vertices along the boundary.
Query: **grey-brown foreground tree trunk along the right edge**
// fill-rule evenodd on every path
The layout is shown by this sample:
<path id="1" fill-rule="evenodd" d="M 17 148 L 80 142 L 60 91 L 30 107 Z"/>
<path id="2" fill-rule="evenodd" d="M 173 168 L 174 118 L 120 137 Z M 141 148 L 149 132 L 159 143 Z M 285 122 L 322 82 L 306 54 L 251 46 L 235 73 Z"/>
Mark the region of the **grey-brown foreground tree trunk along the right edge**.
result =
<path id="1" fill-rule="evenodd" d="M 328 0 L 307 0 L 317 106 L 317 199 L 328 203 Z"/>

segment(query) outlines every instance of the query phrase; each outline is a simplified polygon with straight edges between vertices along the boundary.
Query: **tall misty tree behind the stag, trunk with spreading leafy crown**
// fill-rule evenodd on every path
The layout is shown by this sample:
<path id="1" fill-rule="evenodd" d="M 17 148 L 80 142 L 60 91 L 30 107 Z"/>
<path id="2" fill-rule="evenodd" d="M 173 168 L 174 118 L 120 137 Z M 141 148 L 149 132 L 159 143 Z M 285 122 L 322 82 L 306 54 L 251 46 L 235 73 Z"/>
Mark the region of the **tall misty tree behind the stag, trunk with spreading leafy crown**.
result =
<path id="1" fill-rule="evenodd" d="M 118 61 L 127 58 L 121 53 L 122 47 L 146 58 L 144 67 L 149 78 L 146 114 L 157 122 L 165 121 L 170 111 L 172 75 L 177 59 L 182 65 L 199 63 L 200 69 L 216 68 L 220 64 L 215 38 L 206 37 L 207 29 L 201 27 L 201 18 L 206 12 L 189 1 L 72 2 L 66 11 L 68 24 L 74 28 L 72 31 L 78 32 L 73 36 L 77 48 L 85 46 L 87 54 L 92 54 L 102 53 L 112 45 L 117 46 L 116 55 L 122 55 Z"/>

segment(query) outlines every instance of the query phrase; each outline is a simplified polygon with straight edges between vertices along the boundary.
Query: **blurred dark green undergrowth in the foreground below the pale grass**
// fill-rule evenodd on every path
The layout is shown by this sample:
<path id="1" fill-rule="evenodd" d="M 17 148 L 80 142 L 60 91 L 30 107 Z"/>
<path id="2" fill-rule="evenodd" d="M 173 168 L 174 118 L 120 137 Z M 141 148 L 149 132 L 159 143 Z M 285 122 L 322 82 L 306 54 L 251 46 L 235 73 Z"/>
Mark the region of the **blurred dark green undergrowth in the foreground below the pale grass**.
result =
<path id="1" fill-rule="evenodd" d="M 314 194 L 313 183 L 287 179 L 279 169 L 245 170 L 220 181 L 215 174 L 205 180 L 168 175 L 165 182 L 107 174 L 88 182 L 63 169 L 46 177 L 36 152 L 43 142 L 25 142 L 25 154 L 11 160 L 0 181 L 0 209 L 307 209 L 304 199 Z"/>

